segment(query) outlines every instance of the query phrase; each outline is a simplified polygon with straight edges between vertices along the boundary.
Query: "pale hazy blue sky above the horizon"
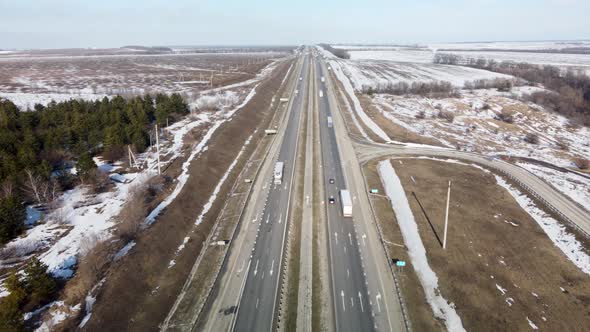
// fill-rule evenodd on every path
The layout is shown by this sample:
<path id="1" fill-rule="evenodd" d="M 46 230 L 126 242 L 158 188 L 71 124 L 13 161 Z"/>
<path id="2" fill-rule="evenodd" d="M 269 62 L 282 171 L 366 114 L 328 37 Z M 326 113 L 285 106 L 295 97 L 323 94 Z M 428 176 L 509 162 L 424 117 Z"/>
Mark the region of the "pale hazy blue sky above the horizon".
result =
<path id="1" fill-rule="evenodd" d="M 0 49 L 590 39 L 590 0 L 0 0 Z"/>

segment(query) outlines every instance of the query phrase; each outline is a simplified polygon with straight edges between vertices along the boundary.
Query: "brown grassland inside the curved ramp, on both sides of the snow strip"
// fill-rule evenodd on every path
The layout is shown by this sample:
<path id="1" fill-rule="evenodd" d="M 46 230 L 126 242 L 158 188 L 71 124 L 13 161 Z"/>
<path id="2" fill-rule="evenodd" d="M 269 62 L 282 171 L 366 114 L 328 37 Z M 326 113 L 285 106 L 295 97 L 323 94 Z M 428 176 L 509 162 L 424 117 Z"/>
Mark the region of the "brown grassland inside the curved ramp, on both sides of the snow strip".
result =
<path id="1" fill-rule="evenodd" d="M 572 264 L 490 173 L 432 160 L 394 160 L 439 290 L 468 331 L 584 331 L 590 278 Z M 366 168 L 380 189 L 375 162 Z M 413 176 L 414 180 L 412 180 Z M 453 181 L 449 240 L 440 244 L 447 180 Z M 392 257 L 408 259 L 389 202 L 373 197 Z M 517 226 L 511 225 L 510 222 Z M 502 290 L 500 290 L 502 288 Z M 440 329 L 411 268 L 402 292 L 417 331 Z M 502 292 L 505 292 L 503 294 Z"/>

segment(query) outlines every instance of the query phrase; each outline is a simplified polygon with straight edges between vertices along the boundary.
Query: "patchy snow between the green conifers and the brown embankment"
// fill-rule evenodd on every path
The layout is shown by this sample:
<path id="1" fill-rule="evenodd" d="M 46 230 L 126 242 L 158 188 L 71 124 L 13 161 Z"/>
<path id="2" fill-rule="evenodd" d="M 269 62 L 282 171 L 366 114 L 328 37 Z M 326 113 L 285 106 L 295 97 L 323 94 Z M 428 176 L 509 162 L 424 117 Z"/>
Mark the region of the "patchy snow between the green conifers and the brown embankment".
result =
<path id="1" fill-rule="evenodd" d="M 265 70 L 264 74 L 257 76 L 257 79 L 264 78 L 273 68 L 274 65 L 271 65 L 271 68 Z M 184 137 L 187 133 L 199 127 L 208 128 L 201 140 L 196 142 L 194 148 L 190 150 L 191 155 L 183 165 L 183 173 L 177 179 L 176 189 L 159 207 L 152 211 L 148 217 L 149 221 L 153 221 L 182 189 L 189 176 L 188 165 L 190 161 L 207 149 L 208 140 L 215 131 L 224 122 L 229 121 L 232 115 L 253 97 L 255 91 L 255 87 L 252 86 L 249 89 L 240 87 L 233 91 L 220 93 L 221 96 L 230 96 L 230 98 L 214 98 L 213 101 L 210 100 L 211 95 L 203 95 L 202 98 L 206 99 L 208 104 L 217 107 L 217 111 L 189 115 L 184 120 L 164 129 L 161 140 L 163 166 L 187 152 L 183 150 Z M 213 96 L 217 96 L 217 94 Z M 215 102 L 218 104 L 214 105 Z M 236 105 L 238 102 L 241 104 Z M 194 108 L 195 105 L 202 103 L 201 99 L 196 98 L 192 106 Z M 111 228 L 115 225 L 114 217 L 120 213 L 129 192 L 133 190 L 134 186 L 145 183 L 157 173 L 155 149 L 150 149 L 136 157 L 143 170 L 127 174 L 120 174 L 120 166 L 105 164 L 95 158 L 99 169 L 109 173 L 111 178 L 118 179 L 113 182 L 114 189 L 94 195 L 90 194 L 87 188 L 78 186 L 65 192 L 59 198 L 60 208 L 42 216 L 42 223 L 35 223 L 31 220 L 29 223 L 33 226 L 27 230 L 26 234 L 8 243 L 3 250 L 13 252 L 14 256 L 23 258 L 40 253 L 41 261 L 48 265 L 51 273 L 57 277 L 71 277 L 78 254 L 81 250 L 86 249 L 84 248 L 85 244 L 92 242 L 94 237 L 99 239 L 110 237 Z M 35 209 L 29 208 L 28 211 L 32 219 L 40 217 Z M 120 256 L 122 257 L 132 247 L 132 244 L 127 244 Z M 9 263 L 3 265 L 10 266 Z"/>

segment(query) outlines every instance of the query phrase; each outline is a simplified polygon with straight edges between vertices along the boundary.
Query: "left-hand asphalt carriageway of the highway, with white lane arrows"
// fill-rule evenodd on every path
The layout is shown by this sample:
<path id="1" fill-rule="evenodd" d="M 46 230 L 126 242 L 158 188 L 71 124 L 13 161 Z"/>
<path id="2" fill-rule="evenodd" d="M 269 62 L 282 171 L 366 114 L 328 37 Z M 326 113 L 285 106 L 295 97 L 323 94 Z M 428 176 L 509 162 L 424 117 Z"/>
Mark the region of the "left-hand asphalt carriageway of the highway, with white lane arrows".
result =
<path id="1" fill-rule="evenodd" d="M 277 161 L 284 162 L 281 184 L 270 183 L 266 207 L 260 215 L 258 234 L 249 262 L 249 271 L 237 308 L 234 331 L 274 330 L 279 275 L 282 267 L 285 234 L 289 222 L 289 203 L 297 152 L 301 114 L 309 79 L 309 57 L 301 70 L 299 93 L 293 95 L 291 112 Z M 269 182 L 272 179 L 268 179 Z"/>

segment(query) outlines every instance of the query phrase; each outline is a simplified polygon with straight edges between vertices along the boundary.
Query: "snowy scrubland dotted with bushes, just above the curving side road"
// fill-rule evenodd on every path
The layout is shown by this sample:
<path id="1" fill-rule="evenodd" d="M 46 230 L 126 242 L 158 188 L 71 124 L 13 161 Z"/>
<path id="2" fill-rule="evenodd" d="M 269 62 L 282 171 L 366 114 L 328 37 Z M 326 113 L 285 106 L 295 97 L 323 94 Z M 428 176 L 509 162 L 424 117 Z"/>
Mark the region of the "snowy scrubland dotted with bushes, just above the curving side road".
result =
<path id="1" fill-rule="evenodd" d="M 514 88 L 514 92 L 528 92 L 530 89 Z M 421 136 L 434 138 L 451 148 L 458 146 L 464 150 L 478 151 L 490 156 L 532 158 L 564 168 L 575 167 L 572 163 L 575 156 L 590 159 L 588 128 L 571 127 L 563 116 L 515 100 L 509 93 L 493 90 L 464 91 L 461 98 L 436 100 L 375 95 L 373 102 L 393 123 Z M 439 118 L 439 109 L 451 112 L 454 121 L 448 122 Z M 497 118 L 502 110 L 512 114 L 513 123 L 509 124 Z M 417 118 L 421 112 L 424 112 L 424 119 Z M 529 133 L 539 137 L 538 144 L 524 141 L 524 137 Z M 567 145 L 568 150 L 561 149 L 559 143 Z M 528 169 L 542 178 L 551 179 L 550 183 L 556 188 L 566 194 L 569 192 L 572 199 L 590 209 L 587 182 L 578 183 L 574 175 L 554 177 L 539 167 Z M 573 194 L 572 191 L 576 193 Z"/>

